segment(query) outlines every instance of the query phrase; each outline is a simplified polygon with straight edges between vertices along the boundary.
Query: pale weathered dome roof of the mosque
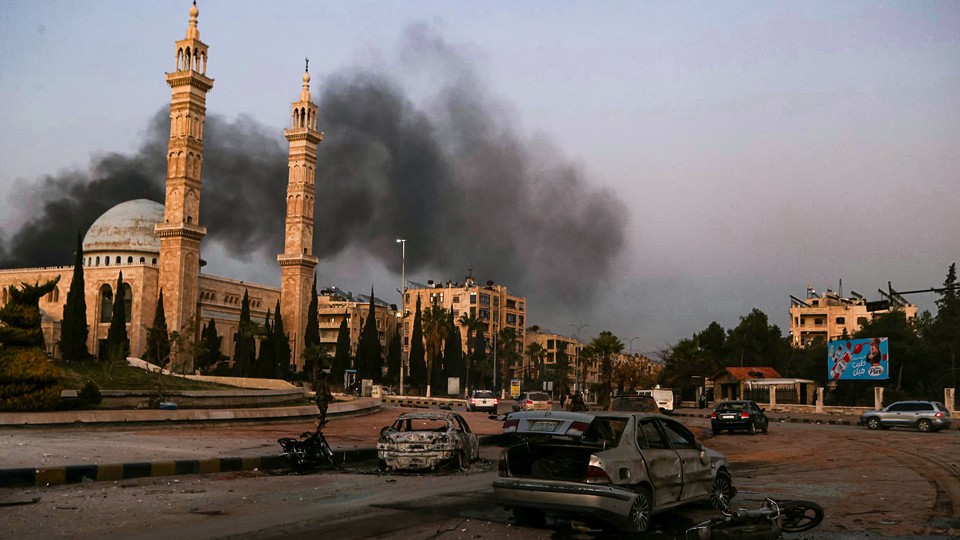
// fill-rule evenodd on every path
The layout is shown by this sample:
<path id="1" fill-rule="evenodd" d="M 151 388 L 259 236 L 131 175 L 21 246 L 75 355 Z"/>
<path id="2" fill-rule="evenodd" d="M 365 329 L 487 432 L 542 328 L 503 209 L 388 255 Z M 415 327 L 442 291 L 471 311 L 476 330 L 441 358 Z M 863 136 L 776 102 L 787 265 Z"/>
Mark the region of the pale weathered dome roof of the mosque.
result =
<path id="1" fill-rule="evenodd" d="M 83 238 L 83 253 L 139 251 L 160 253 L 154 232 L 163 221 L 163 205 L 148 199 L 120 203 L 97 218 Z"/>

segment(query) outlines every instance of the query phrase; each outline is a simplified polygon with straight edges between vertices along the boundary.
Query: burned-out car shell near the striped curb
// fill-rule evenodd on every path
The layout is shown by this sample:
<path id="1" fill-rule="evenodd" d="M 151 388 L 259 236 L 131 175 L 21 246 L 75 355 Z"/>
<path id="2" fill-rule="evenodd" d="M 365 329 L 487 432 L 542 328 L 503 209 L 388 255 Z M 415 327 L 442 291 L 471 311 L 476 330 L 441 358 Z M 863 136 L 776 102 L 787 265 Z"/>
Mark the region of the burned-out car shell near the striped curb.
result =
<path id="1" fill-rule="evenodd" d="M 467 468 L 480 457 L 477 435 L 449 411 L 403 413 L 380 431 L 377 457 L 383 470 Z"/>

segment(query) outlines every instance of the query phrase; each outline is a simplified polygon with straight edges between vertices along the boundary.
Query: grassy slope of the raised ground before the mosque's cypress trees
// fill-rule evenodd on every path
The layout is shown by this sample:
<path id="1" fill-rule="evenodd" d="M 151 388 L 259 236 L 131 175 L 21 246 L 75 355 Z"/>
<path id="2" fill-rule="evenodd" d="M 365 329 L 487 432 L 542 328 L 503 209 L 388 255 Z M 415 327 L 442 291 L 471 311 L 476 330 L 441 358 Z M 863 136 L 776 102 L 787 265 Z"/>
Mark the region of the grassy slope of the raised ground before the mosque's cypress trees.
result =
<path id="1" fill-rule="evenodd" d="M 157 389 L 157 374 L 129 364 L 116 364 L 109 374 L 99 362 L 54 361 L 60 370 L 60 380 L 65 390 L 80 390 L 87 381 L 93 381 L 101 390 L 149 390 Z M 164 390 L 230 390 L 235 386 L 193 381 L 183 377 L 160 375 Z"/>

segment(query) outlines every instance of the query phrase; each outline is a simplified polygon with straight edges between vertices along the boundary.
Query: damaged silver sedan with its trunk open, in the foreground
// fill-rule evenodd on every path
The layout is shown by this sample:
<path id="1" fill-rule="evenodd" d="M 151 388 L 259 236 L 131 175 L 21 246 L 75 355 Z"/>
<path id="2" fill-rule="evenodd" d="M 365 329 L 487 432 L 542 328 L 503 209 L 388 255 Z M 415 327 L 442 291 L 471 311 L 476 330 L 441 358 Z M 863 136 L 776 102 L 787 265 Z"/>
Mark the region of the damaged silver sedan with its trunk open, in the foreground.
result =
<path id="1" fill-rule="evenodd" d="M 501 452 L 494 497 L 521 523 L 551 514 L 642 532 L 654 514 L 726 507 L 736 494 L 727 459 L 660 414 L 518 412 L 503 433 L 515 444 Z"/>

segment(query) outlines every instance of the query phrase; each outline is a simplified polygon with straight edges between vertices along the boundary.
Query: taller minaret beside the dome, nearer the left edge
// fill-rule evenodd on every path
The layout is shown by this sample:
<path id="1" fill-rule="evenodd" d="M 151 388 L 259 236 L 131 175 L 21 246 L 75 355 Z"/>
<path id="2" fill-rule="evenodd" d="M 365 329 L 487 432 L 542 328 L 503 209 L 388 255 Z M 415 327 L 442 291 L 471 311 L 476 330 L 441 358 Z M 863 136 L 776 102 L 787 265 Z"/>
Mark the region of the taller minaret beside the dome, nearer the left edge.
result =
<path id="1" fill-rule="evenodd" d="M 181 331 L 196 320 L 199 301 L 200 240 L 207 234 L 200 226 L 200 165 L 203 163 L 203 121 L 207 92 L 207 46 L 200 41 L 194 2 L 190 8 L 187 36 L 177 42 L 177 69 L 167 73 L 173 89 L 170 100 L 170 143 L 167 146 L 167 182 L 163 223 L 156 227 L 160 238 L 160 288 L 170 330 Z"/>

